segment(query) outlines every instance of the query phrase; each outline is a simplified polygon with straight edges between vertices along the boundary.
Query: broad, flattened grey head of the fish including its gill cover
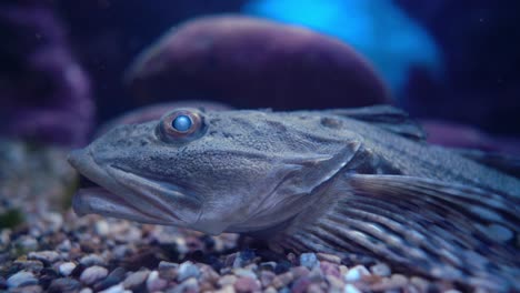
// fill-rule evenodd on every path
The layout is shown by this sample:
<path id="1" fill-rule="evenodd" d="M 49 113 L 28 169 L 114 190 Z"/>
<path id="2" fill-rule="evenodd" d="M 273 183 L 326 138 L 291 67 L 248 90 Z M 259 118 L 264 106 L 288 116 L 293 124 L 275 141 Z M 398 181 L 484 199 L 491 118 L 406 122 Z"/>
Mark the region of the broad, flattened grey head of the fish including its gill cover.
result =
<path id="1" fill-rule="evenodd" d="M 311 204 L 304 195 L 356 152 L 334 133 L 319 134 L 319 121 L 178 109 L 116 127 L 69 156 L 101 186 L 80 190 L 74 211 L 210 234 L 274 225 Z"/>

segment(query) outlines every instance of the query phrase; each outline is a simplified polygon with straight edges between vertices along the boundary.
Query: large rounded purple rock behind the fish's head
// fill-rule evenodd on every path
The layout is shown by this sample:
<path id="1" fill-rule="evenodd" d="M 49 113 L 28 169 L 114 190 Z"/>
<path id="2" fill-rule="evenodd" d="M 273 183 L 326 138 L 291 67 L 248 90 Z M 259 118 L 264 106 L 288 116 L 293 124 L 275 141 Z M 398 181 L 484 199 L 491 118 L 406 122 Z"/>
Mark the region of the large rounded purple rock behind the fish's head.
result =
<path id="1" fill-rule="evenodd" d="M 172 29 L 137 59 L 127 82 L 143 100 L 211 97 L 239 108 L 389 101 L 372 67 L 348 44 L 239 16 L 198 18 Z"/>

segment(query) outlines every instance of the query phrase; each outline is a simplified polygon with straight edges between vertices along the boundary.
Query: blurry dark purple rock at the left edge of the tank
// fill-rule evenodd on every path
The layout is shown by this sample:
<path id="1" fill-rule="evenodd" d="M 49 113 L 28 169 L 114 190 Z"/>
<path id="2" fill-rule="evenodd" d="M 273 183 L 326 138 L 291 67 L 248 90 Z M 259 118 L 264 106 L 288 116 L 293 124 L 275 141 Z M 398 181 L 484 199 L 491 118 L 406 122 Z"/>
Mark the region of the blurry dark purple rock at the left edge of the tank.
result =
<path id="1" fill-rule="evenodd" d="M 42 3 L 0 4 L 0 133 L 44 143 L 78 145 L 92 125 L 84 72 L 64 31 Z"/>

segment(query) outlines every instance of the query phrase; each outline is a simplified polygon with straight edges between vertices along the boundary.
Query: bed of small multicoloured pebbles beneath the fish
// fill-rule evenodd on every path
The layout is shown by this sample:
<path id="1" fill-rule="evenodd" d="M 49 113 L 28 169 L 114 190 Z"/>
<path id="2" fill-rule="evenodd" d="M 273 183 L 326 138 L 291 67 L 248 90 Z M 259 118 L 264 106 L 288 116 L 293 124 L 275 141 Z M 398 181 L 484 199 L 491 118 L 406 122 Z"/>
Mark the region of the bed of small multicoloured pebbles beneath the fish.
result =
<path id="1" fill-rule="evenodd" d="M 279 255 L 236 234 L 208 236 L 73 212 L 0 234 L 0 291 L 457 292 L 449 283 L 337 255 Z"/>

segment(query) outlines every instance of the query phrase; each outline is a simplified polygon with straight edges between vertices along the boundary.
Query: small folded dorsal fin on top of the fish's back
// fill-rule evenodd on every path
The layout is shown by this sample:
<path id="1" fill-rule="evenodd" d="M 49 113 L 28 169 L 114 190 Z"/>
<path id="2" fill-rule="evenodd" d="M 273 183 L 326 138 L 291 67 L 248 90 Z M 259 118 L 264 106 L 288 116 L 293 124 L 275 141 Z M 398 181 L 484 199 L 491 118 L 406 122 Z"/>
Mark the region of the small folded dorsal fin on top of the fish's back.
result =
<path id="1" fill-rule="evenodd" d="M 387 104 L 334 109 L 327 112 L 363 121 L 416 141 L 424 141 L 427 137 L 422 127 L 410 119 L 407 112 Z"/>

